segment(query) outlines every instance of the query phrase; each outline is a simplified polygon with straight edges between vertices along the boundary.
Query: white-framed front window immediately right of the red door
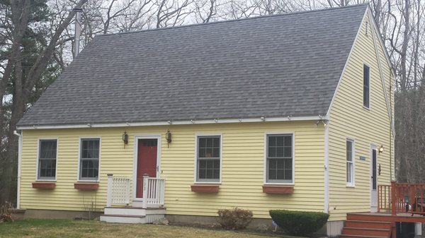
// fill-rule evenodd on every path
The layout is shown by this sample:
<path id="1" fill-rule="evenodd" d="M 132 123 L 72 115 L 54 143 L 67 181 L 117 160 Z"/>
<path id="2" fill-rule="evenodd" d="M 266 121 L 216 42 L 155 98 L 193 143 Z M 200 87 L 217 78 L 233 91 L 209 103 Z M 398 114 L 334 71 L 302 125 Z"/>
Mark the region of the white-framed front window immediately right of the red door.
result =
<path id="1" fill-rule="evenodd" d="M 221 136 L 197 136 L 196 182 L 220 182 Z"/>

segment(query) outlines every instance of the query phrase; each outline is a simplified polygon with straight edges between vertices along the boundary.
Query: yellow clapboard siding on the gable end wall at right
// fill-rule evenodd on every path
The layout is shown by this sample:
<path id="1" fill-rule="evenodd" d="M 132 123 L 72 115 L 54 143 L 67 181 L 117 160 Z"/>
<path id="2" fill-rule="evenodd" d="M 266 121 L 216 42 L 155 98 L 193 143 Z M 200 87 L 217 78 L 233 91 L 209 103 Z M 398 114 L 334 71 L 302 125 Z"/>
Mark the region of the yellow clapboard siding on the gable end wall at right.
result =
<path id="1" fill-rule="evenodd" d="M 385 148 L 377 158 L 382 169 L 378 184 L 389 184 L 391 180 L 390 148 L 391 159 L 394 160 L 394 141 L 392 138 L 390 141 L 390 119 L 373 36 L 370 32 L 368 35 L 364 32 L 363 22 L 329 114 L 330 220 L 345 220 L 348 212 L 370 211 L 371 143 Z M 375 40 L 380 50 L 385 87 L 390 93 L 389 85 L 394 81 L 378 35 L 375 35 Z M 370 109 L 363 107 L 363 64 L 370 66 Z M 346 186 L 346 138 L 355 140 L 355 188 Z M 360 160 L 360 156 L 365 156 L 366 160 Z"/>

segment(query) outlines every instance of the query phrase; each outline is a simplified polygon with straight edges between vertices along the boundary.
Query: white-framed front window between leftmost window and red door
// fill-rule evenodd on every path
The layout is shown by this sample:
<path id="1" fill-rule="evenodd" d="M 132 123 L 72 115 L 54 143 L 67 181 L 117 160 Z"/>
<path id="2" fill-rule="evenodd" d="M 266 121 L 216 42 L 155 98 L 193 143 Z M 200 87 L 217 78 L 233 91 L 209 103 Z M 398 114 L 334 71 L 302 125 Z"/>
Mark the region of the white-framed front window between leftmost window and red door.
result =
<path id="1" fill-rule="evenodd" d="M 98 180 L 100 138 L 81 138 L 79 179 Z"/>

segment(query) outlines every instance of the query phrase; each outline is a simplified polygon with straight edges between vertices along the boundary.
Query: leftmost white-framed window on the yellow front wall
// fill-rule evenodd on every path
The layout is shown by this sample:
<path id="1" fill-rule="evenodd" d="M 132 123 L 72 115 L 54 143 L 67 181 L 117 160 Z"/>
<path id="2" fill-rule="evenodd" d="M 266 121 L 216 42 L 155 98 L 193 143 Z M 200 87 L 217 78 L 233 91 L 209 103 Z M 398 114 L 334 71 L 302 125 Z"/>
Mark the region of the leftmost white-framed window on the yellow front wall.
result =
<path id="1" fill-rule="evenodd" d="M 40 139 L 38 141 L 39 180 L 56 179 L 57 139 Z"/>

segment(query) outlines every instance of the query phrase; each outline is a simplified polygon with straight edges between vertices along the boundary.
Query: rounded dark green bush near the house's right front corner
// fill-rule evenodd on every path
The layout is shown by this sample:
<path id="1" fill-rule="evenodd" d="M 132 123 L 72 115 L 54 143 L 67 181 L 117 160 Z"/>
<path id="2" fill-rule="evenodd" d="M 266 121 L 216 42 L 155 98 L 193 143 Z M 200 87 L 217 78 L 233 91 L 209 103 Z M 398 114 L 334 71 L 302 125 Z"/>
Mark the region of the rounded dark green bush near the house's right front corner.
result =
<path id="1" fill-rule="evenodd" d="M 329 214 L 300 210 L 270 210 L 271 218 L 283 231 L 295 236 L 317 232 L 326 224 Z"/>

